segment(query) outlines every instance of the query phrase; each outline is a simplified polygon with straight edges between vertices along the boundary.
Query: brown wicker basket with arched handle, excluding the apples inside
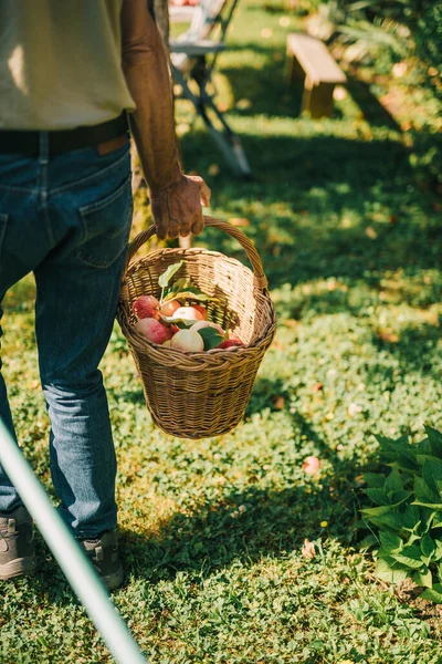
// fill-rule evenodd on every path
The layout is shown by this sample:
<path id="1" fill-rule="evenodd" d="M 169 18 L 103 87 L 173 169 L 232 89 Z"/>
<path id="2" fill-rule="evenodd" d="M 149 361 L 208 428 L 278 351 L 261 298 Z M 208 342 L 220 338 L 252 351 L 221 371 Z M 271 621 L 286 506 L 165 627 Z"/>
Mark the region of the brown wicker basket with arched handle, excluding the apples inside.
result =
<path id="1" fill-rule="evenodd" d="M 256 249 L 243 232 L 211 217 L 213 226 L 244 248 L 253 272 L 240 261 L 208 249 L 158 249 L 129 264 L 155 234 L 155 226 L 130 243 L 117 319 L 143 381 L 154 422 L 167 434 L 203 438 L 225 434 L 240 422 L 250 400 L 263 355 L 275 333 L 276 319 L 267 280 Z M 188 277 L 209 300 L 209 319 L 238 334 L 245 346 L 183 353 L 148 342 L 134 328 L 134 301 L 160 295 L 159 276 L 172 263 L 185 263 L 176 279 Z"/>

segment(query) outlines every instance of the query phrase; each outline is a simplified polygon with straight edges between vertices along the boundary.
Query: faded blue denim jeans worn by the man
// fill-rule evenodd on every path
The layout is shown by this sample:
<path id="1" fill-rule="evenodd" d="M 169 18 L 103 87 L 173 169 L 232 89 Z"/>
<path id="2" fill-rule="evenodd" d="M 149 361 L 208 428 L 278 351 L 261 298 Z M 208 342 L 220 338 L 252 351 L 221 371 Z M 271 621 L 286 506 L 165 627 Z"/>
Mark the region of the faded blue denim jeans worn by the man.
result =
<path id="1" fill-rule="evenodd" d="M 117 522 L 115 450 L 97 367 L 112 333 L 130 222 L 128 144 L 103 156 L 94 147 L 49 156 L 42 132 L 38 157 L 0 154 L 0 304 L 12 284 L 34 273 L 51 474 L 76 538 L 97 537 Z M 1 362 L 0 417 L 15 437 Z M 0 511 L 19 505 L 0 466 Z"/>

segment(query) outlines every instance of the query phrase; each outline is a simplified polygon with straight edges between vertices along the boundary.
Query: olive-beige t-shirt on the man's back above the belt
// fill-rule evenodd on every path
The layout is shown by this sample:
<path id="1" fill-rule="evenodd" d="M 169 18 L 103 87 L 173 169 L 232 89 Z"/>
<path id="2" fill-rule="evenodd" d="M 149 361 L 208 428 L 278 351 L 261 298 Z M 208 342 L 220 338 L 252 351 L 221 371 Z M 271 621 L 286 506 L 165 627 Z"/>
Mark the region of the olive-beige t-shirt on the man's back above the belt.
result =
<path id="1" fill-rule="evenodd" d="M 135 110 L 123 0 L 0 0 L 0 128 L 66 129 Z"/>

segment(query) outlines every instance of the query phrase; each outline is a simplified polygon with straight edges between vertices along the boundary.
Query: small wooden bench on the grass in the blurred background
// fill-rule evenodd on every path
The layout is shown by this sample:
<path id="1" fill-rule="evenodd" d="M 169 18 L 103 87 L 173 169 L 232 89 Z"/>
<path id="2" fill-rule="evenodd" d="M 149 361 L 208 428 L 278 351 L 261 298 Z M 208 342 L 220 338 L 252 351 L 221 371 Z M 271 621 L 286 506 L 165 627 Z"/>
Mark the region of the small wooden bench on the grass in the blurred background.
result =
<path id="1" fill-rule="evenodd" d="M 290 79 L 305 80 L 303 111 L 312 117 L 333 114 L 333 91 L 337 83 L 345 84 L 347 77 L 328 52 L 327 46 L 308 34 L 287 35 L 287 55 L 291 58 Z"/>

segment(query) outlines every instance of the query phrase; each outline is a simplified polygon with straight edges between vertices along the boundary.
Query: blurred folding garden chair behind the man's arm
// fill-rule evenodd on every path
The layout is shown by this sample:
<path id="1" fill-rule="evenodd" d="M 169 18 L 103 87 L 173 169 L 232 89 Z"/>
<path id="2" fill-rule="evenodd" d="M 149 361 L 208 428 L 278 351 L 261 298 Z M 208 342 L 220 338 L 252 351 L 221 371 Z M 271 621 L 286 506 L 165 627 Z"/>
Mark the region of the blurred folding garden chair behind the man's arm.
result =
<path id="1" fill-rule="evenodd" d="M 214 90 L 213 71 L 219 53 L 225 50 L 225 33 L 236 4 L 238 0 L 201 0 L 191 8 L 192 11 L 187 12 L 191 18 L 189 29 L 178 39 L 170 40 L 170 59 L 172 75 L 182 89 L 182 96 L 192 102 L 232 170 L 246 178 L 251 176 L 251 169 L 241 139 L 217 107 L 215 93 L 209 91 L 210 87 Z M 175 18 L 171 12 L 173 21 L 181 15 L 181 8 L 177 9 Z"/>

